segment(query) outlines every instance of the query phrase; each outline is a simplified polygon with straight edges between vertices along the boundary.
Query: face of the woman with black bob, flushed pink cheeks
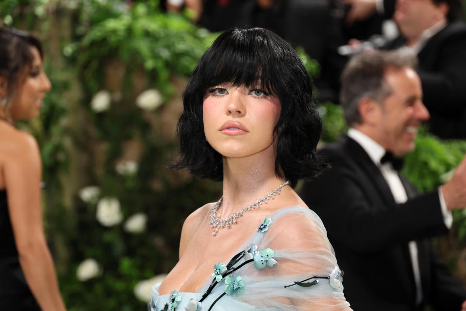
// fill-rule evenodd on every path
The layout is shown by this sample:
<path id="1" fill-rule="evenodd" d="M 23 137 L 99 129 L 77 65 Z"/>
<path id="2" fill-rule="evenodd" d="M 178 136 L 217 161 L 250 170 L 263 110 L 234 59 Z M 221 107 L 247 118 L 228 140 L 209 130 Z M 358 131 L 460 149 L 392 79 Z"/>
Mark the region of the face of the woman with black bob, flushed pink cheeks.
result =
<path id="1" fill-rule="evenodd" d="M 227 83 L 207 90 L 202 111 L 205 137 L 221 155 L 241 158 L 273 148 L 281 112 L 277 96 Z"/>

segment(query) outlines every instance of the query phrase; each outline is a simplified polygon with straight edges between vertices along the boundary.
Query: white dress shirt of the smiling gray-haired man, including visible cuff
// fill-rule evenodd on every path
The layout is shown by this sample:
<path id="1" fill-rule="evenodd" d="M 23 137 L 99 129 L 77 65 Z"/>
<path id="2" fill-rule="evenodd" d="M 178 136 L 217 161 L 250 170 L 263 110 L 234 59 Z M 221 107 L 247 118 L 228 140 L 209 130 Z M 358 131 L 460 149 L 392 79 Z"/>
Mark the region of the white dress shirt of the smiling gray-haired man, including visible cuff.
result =
<path id="1" fill-rule="evenodd" d="M 369 155 L 372 162 L 374 162 L 375 165 L 379 168 L 380 172 L 383 175 L 383 178 L 387 182 L 392 192 L 395 202 L 398 204 L 405 203 L 408 200 L 408 196 L 406 195 L 406 190 L 404 189 L 403 184 L 399 179 L 398 172 L 395 169 L 393 169 L 392 164 L 390 162 L 384 164 L 380 163 L 380 160 L 382 159 L 383 155 L 385 155 L 385 149 L 372 138 L 369 138 L 367 135 L 354 128 L 350 128 L 348 130 L 348 136 L 361 145 L 361 147 L 366 151 L 367 155 Z M 453 218 L 451 216 L 451 212 L 447 210 L 440 187 L 438 188 L 438 196 L 440 200 L 440 208 L 442 210 L 444 223 L 447 226 L 447 228 L 451 228 Z M 413 266 L 414 279 L 416 281 L 416 303 L 420 304 L 422 302 L 423 297 L 416 242 L 408 242 L 408 247 L 409 254 L 411 257 L 411 263 Z"/>

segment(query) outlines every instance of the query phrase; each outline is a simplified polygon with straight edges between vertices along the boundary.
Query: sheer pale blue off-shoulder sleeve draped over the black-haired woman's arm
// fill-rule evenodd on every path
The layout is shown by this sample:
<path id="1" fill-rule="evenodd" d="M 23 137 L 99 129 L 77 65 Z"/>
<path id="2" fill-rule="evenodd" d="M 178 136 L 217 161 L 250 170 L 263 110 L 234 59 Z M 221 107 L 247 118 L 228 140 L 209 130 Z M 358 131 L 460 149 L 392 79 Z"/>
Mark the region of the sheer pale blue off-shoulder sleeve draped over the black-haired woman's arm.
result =
<path id="1" fill-rule="evenodd" d="M 251 243 L 254 262 L 235 273 L 244 282 L 236 299 L 257 310 L 351 310 L 332 245 L 313 211 L 283 209 L 261 231 Z"/>

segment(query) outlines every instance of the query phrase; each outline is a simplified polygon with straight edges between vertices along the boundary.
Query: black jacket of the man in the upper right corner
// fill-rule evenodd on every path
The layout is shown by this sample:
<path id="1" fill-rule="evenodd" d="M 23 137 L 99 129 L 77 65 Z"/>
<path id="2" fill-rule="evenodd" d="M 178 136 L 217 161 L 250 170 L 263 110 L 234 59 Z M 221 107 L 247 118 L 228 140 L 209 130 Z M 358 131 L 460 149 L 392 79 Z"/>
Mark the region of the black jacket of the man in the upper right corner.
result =
<path id="1" fill-rule="evenodd" d="M 385 48 L 404 45 L 400 36 Z M 466 138 L 466 24 L 449 23 L 427 41 L 417 59 L 431 132 L 440 138 Z"/>

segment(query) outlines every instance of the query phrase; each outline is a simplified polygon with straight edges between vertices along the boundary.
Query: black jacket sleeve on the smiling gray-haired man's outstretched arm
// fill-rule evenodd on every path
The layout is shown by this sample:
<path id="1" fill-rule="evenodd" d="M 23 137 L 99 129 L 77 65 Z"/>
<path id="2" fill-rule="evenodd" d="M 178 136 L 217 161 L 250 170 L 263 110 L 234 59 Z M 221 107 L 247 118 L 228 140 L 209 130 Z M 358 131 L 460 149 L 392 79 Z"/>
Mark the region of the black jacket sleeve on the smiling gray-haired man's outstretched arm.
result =
<path id="1" fill-rule="evenodd" d="M 332 168 L 305 183 L 300 195 L 322 219 L 330 242 L 373 253 L 448 232 L 437 190 L 404 204 L 384 205 L 371 180 L 353 169 L 344 155 L 325 156 Z"/>

